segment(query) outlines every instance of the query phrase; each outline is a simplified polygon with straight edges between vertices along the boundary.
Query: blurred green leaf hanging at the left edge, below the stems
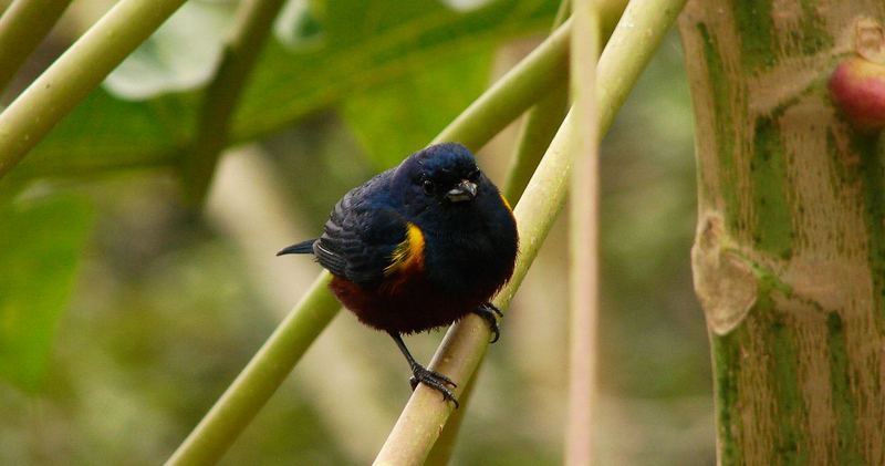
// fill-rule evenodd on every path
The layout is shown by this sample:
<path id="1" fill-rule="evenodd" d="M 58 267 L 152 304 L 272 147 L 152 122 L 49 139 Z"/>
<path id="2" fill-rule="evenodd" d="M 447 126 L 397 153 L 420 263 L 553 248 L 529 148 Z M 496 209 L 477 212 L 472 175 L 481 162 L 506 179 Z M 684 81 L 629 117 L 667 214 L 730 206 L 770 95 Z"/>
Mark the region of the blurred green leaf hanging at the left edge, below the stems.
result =
<path id="1" fill-rule="evenodd" d="M 81 198 L 0 206 L 0 379 L 24 391 L 43 382 L 92 225 Z"/>

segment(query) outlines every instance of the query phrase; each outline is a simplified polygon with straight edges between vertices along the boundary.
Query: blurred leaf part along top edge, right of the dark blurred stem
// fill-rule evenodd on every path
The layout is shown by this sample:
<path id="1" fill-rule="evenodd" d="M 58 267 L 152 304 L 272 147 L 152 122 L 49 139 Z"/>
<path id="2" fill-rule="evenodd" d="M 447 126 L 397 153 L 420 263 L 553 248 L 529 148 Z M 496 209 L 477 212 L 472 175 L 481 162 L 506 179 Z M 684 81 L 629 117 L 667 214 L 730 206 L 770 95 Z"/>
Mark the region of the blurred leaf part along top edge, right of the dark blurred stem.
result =
<path id="1" fill-rule="evenodd" d="M 233 117 L 233 139 L 261 136 L 459 52 L 545 28 L 555 7 L 543 0 L 499 0 L 461 14 L 435 0 L 330 2 L 321 20 L 324 48 L 291 53 L 278 42 L 268 44 Z"/>

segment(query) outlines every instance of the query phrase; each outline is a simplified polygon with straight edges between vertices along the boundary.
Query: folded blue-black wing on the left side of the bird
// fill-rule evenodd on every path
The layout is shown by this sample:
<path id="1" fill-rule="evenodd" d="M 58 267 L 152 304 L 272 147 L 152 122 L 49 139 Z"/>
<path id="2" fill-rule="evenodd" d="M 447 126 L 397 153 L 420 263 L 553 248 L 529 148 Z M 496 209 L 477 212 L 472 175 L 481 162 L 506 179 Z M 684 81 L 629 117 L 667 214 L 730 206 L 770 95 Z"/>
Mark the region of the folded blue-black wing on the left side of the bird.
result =
<path id="1" fill-rule="evenodd" d="M 392 265 L 407 259 L 404 242 L 410 236 L 409 226 L 394 209 L 351 191 L 335 205 L 313 253 L 335 276 L 363 286 L 377 284 Z"/>

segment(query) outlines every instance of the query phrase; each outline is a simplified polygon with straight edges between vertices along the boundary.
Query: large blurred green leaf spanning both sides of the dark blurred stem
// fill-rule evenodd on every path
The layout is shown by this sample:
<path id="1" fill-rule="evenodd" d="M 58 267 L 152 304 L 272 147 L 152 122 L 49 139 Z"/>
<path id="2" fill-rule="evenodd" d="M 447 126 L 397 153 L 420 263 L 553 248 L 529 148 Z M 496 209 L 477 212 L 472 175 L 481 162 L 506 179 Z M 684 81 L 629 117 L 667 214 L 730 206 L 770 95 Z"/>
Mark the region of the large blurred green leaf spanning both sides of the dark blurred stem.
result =
<path id="1" fill-rule="evenodd" d="M 435 0 L 316 2 L 314 27 L 322 28 L 322 39 L 294 49 L 268 43 L 233 116 L 231 141 L 253 139 L 410 71 L 541 30 L 555 3 L 497 0 L 462 13 Z M 18 170 L 69 176 L 171 165 L 194 136 L 197 95 L 124 102 L 96 91 Z"/>

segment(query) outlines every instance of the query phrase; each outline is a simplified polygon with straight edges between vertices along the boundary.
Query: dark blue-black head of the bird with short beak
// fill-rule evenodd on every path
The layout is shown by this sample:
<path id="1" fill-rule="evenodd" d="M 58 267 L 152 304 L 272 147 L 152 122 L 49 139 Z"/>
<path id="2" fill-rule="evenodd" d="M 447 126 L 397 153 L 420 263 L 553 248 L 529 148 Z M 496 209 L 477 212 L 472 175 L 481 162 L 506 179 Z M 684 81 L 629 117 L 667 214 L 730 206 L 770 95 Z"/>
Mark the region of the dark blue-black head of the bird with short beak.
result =
<path id="1" fill-rule="evenodd" d="M 458 143 L 442 143 L 403 160 L 394 183 L 404 200 L 415 207 L 467 206 L 490 183 L 477 167 L 473 154 Z"/>

